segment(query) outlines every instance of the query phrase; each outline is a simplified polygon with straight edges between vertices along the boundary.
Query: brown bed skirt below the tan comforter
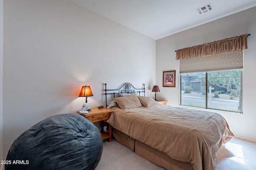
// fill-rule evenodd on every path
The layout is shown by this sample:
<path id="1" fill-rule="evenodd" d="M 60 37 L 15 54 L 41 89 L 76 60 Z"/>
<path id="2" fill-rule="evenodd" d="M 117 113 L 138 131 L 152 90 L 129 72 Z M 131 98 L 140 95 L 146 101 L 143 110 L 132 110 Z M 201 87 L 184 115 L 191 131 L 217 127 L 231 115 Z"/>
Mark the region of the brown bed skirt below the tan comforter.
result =
<path id="1" fill-rule="evenodd" d="M 175 160 L 168 156 L 166 153 L 154 149 L 140 141 L 129 137 L 128 135 L 114 129 L 112 127 L 112 135 L 118 143 L 124 145 L 135 154 L 161 166 L 167 170 L 193 170 L 193 166 L 189 162 L 182 162 Z"/>

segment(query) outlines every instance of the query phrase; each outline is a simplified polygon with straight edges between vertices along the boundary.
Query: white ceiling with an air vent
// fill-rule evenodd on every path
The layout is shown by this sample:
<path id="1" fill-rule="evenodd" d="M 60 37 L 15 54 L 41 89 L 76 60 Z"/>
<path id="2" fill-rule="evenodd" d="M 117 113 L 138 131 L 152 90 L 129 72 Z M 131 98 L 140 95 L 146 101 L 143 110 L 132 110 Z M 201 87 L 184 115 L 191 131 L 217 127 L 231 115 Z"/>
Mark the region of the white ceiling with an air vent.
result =
<path id="1" fill-rule="evenodd" d="M 70 1 L 155 40 L 256 6 L 256 0 Z"/>

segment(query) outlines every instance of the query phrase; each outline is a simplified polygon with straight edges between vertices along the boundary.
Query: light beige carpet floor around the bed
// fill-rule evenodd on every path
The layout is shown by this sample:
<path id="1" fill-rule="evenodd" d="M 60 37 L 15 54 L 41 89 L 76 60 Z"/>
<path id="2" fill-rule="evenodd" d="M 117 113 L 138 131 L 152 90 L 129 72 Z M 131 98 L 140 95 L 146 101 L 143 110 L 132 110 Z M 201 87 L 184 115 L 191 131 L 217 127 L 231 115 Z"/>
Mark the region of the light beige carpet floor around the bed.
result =
<path id="1" fill-rule="evenodd" d="M 131 152 L 115 139 L 104 140 L 96 170 L 164 170 Z M 256 170 L 256 143 L 234 138 L 217 153 L 216 170 Z"/>

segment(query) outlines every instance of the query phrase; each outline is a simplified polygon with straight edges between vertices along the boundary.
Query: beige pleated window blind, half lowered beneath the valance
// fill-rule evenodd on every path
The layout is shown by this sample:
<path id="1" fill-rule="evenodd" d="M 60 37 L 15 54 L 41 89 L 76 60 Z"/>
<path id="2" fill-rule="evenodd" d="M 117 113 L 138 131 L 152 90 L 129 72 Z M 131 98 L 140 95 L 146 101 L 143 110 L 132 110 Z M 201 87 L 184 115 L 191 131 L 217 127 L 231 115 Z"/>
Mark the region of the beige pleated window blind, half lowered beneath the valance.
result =
<path id="1" fill-rule="evenodd" d="M 244 50 L 180 60 L 180 73 L 242 69 Z"/>

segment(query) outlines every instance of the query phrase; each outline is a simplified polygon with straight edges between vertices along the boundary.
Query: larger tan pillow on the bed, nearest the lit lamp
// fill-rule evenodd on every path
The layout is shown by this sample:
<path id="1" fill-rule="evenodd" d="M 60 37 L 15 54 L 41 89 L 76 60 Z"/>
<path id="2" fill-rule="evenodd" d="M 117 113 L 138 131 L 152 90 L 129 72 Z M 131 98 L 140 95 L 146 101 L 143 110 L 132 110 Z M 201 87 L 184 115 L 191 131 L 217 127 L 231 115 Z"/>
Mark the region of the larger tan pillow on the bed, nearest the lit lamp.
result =
<path id="1" fill-rule="evenodd" d="M 116 100 L 118 106 L 123 110 L 142 106 L 136 94 L 131 94 L 120 98 L 114 98 L 114 100 Z"/>

